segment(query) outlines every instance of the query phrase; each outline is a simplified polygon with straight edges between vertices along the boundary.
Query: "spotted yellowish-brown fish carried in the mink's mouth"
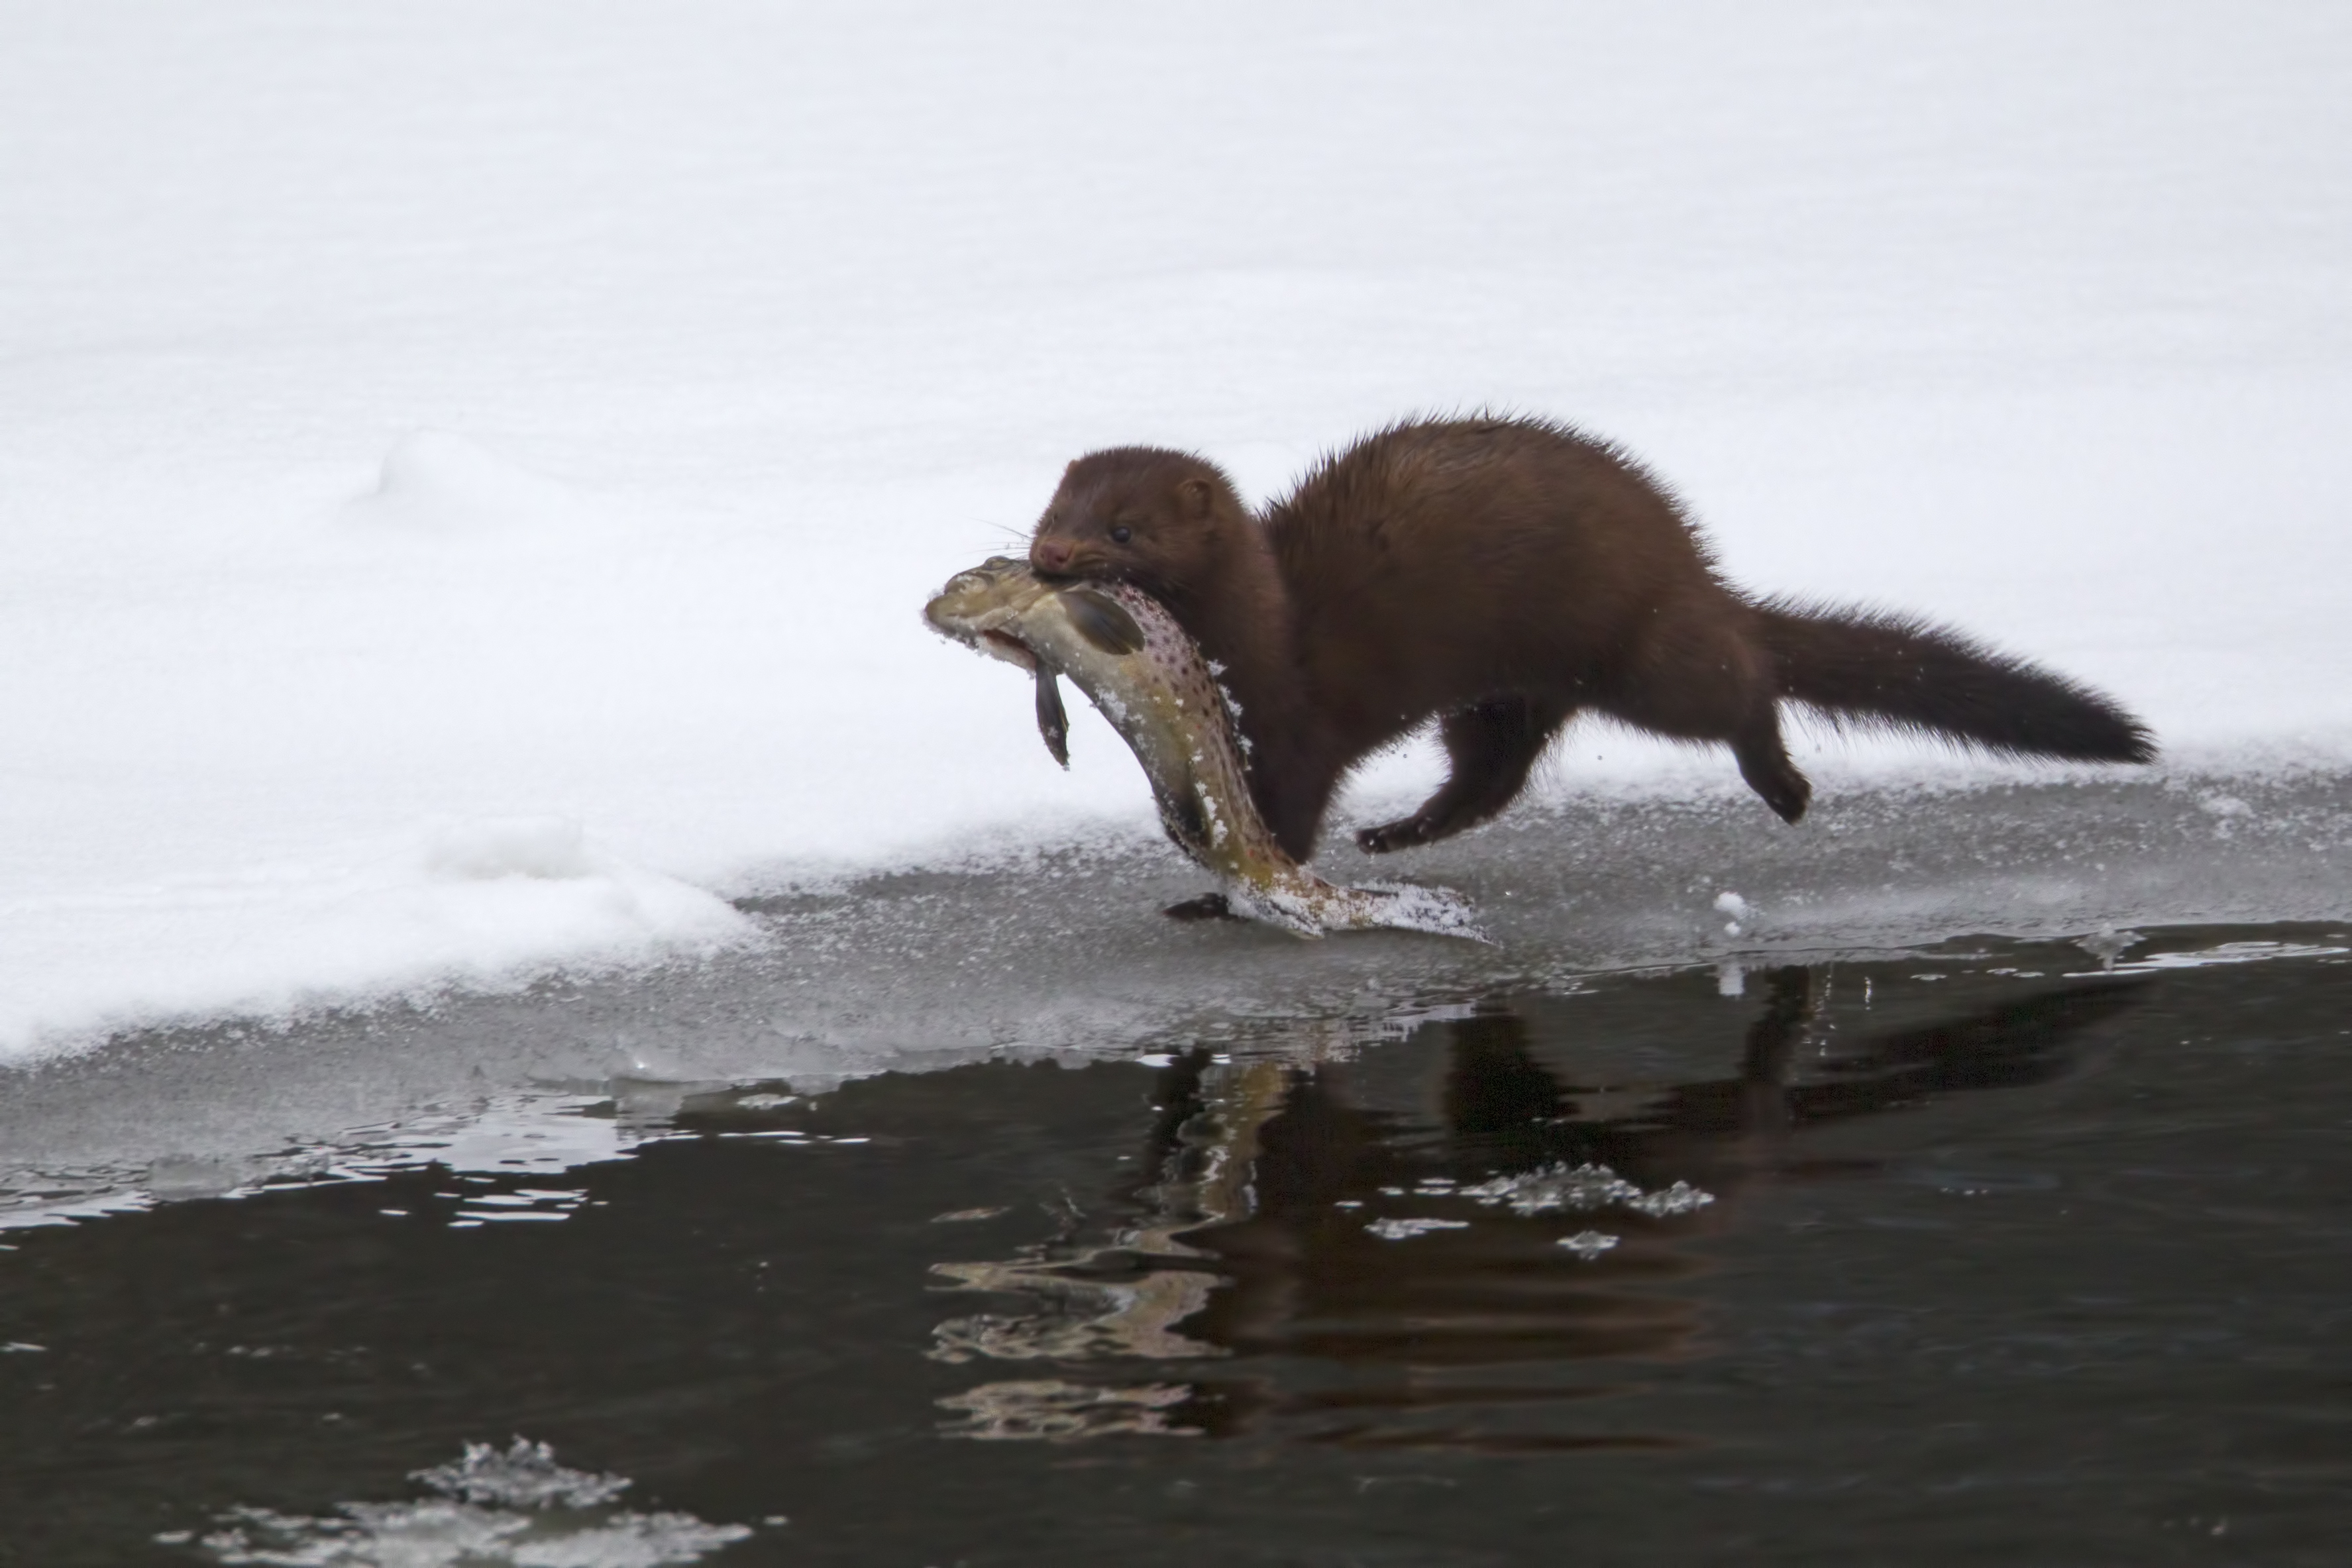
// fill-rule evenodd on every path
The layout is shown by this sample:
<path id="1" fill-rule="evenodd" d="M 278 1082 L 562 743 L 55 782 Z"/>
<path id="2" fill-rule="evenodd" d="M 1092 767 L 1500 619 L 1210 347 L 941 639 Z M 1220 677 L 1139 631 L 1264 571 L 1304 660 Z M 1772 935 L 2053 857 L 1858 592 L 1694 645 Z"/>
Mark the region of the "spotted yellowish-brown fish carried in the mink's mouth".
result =
<path id="1" fill-rule="evenodd" d="M 1225 884 L 1237 914 L 1301 936 L 1397 926 L 1475 936 L 1468 905 L 1442 889 L 1343 889 L 1291 860 L 1249 797 L 1232 712 L 1176 618 L 1127 583 L 1037 581 L 997 555 L 962 571 L 924 607 L 946 637 L 1037 677 L 1037 729 L 1068 766 L 1056 677 L 1094 698 L 1136 752 L 1167 835 Z"/>

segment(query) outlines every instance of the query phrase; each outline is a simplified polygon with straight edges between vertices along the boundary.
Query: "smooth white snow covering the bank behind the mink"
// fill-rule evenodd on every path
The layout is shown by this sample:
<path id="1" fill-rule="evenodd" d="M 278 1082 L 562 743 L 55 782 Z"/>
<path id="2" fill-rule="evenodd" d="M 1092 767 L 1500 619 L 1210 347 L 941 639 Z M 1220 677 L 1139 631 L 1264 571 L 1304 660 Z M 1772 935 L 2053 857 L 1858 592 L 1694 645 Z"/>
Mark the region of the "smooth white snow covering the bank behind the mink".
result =
<path id="1" fill-rule="evenodd" d="M 2343 771 L 2347 66 L 2307 5 L 14 5 L 0 1058 L 1145 823 L 917 618 L 1112 442 L 1265 494 L 1564 416 L 1757 590 Z"/>

